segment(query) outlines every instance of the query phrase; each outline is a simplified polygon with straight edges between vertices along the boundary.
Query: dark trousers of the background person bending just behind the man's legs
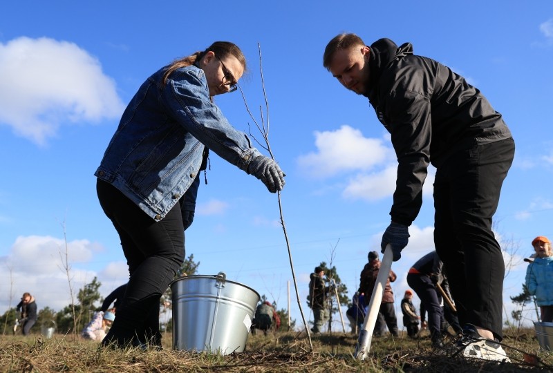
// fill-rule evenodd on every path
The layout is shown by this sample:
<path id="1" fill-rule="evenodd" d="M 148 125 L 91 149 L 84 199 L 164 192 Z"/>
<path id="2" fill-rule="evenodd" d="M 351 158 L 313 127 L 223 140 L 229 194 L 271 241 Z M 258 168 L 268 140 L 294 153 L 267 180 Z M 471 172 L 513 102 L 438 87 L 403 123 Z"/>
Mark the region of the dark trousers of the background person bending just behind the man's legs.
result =
<path id="1" fill-rule="evenodd" d="M 436 293 L 435 285 L 430 277 L 424 274 L 407 274 L 407 283 L 420 298 L 424 309 L 428 312 L 428 329 L 432 343 L 438 343 L 442 338 L 442 306 Z M 421 314 L 422 317 L 422 314 Z"/>

